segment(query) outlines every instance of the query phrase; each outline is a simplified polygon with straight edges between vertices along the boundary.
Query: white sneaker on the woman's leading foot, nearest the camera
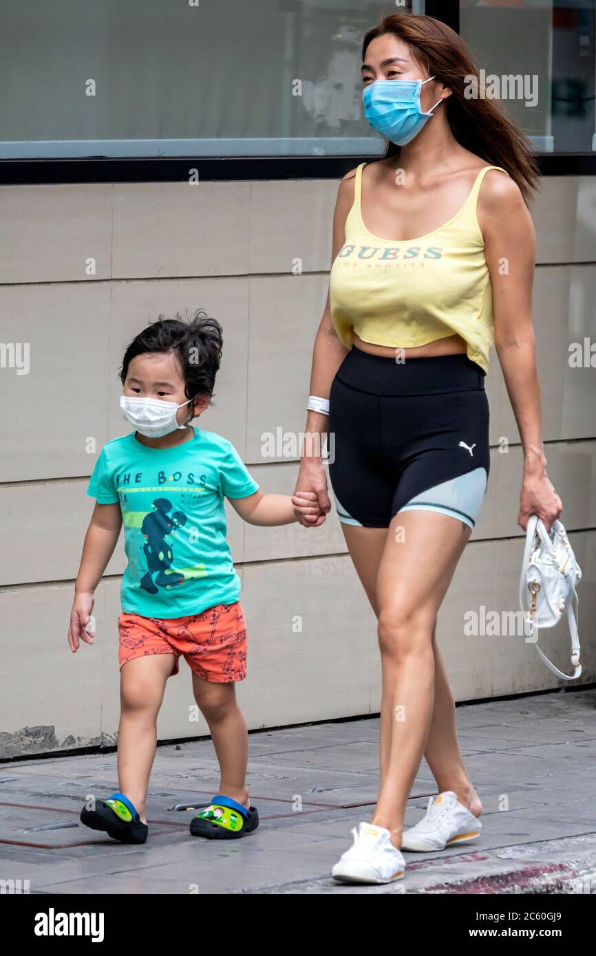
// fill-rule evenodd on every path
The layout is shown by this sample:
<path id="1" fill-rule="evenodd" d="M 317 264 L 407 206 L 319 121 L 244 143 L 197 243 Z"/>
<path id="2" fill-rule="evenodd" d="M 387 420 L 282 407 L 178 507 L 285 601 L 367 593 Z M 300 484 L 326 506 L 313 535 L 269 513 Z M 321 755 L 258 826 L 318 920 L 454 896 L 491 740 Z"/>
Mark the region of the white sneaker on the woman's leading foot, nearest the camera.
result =
<path id="1" fill-rule="evenodd" d="M 345 883 L 390 883 L 404 876 L 406 860 L 390 840 L 385 827 L 359 823 L 352 829 L 354 843 L 331 871 Z"/>

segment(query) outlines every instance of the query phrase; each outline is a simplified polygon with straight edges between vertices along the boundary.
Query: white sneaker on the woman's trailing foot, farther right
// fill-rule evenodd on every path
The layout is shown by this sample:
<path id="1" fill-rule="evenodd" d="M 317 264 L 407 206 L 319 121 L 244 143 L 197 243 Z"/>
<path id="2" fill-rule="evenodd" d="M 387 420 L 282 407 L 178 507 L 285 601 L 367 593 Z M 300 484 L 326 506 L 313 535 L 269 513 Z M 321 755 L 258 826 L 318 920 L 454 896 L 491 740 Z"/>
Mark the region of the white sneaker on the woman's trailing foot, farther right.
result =
<path id="1" fill-rule="evenodd" d="M 453 843 L 471 843 L 480 836 L 482 824 L 457 799 L 453 790 L 430 797 L 427 815 L 404 831 L 402 850 L 430 853 Z"/>

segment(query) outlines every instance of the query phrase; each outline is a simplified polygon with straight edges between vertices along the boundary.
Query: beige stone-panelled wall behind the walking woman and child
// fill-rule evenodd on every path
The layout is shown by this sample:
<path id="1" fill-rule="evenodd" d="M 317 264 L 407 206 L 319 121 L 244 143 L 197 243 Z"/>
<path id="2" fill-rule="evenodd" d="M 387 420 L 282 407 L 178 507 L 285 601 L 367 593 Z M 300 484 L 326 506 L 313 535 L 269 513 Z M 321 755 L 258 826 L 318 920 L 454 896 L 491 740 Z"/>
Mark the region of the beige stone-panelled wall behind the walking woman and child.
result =
<path id="1" fill-rule="evenodd" d="M 264 490 L 290 492 L 298 471 L 264 459 L 264 432 L 305 421 L 312 341 L 327 292 L 337 183 L 32 185 L 0 188 L 0 341 L 29 343 L 28 374 L 0 368 L 0 755 L 89 746 L 118 724 L 119 543 L 99 586 L 93 647 L 66 633 L 98 450 L 125 433 L 118 406 L 124 345 L 160 312 L 204 308 L 224 326 L 215 405 L 201 420 L 229 438 Z M 586 682 L 596 676 L 596 379 L 571 368 L 570 342 L 596 339 L 596 181 L 548 178 L 539 235 L 535 326 L 550 476 L 585 576 L 580 630 Z M 95 274 L 86 274 L 94 259 Z M 293 274 L 301 260 L 302 274 Z M 556 685 L 520 638 L 465 637 L 464 615 L 515 611 L 519 435 L 495 353 L 487 383 L 492 471 L 473 538 L 439 617 L 457 700 Z M 498 450 L 501 438 L 511 443 Z M 375 712 L 375 622 L 332 515 L 320 531 L 258 529 L 230 514 L 249 626 L 239 687 L 250 728 Z M 421 569 L 421 573 L 424 569 Z M 301 632 L 293 621 L 301 617 Z M 566 666 L 566 636 L 545 647 Z M 563 642 L 564 652 L 557 654 Z M 188 669 L 169 682 L 159 735 L 188 737 Z M 37 729 L 35 729 L 37 728 Z M 27 734 L 25 734 L 27 737 Z"/>

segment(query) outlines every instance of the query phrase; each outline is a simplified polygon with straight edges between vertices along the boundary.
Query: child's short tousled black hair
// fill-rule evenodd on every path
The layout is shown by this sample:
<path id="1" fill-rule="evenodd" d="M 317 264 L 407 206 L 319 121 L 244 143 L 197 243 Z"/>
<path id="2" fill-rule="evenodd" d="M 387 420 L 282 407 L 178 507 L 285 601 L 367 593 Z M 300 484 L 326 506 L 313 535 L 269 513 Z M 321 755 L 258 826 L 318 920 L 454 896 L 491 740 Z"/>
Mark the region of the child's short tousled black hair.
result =
<path id="1" fill-rule="evenodd" d="M 202 309 L 186 318 L 180 313 L 176 314 L 176 318 L 160 315 L 156 322 L 133 338 L 124 352 L 121 382 L 124 384 L 132 359 L 144 352 L 170 352 L 178 359 L 187 398 L 211 396 L 223 344 L 221 325 Z"/>

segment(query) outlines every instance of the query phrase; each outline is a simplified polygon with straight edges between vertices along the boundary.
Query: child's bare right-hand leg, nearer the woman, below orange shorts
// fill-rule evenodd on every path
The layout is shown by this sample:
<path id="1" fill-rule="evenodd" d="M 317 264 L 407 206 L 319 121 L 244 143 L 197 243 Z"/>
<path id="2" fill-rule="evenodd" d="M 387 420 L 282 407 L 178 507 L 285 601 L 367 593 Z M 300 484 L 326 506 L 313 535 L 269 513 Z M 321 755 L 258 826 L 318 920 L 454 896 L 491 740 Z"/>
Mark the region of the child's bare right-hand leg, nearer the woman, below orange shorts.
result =
<path id="1" fill-rule="evenodd" d="M 249 737 L 242 711 L 236 703 L 233 681 L 227 684 L 204 681 L 192 674 L 192 690 L 201 713 L 209 724 L 213 747 L 219 761 L 219 793 L 249 806 L 246 767 Z"/>

